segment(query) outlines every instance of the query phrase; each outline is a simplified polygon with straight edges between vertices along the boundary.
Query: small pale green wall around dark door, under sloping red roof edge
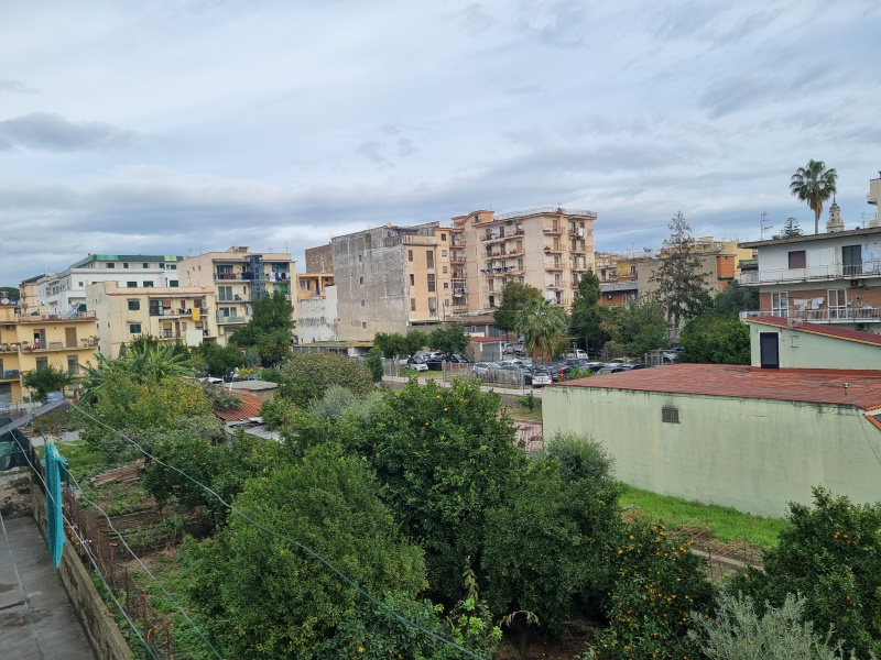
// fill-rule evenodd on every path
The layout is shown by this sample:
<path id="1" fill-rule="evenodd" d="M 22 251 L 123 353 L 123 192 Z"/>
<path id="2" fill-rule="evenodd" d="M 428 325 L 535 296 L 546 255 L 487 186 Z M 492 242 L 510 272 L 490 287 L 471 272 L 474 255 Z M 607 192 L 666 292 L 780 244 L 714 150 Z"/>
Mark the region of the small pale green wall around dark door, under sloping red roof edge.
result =
<path id="1" fill-rule="evenodd" d="M 780 334 L 781 369 L 881 370 L 881 346 L 773 326 L 749 323 L 752 366 L 760 366 L 759 333 Z"/>

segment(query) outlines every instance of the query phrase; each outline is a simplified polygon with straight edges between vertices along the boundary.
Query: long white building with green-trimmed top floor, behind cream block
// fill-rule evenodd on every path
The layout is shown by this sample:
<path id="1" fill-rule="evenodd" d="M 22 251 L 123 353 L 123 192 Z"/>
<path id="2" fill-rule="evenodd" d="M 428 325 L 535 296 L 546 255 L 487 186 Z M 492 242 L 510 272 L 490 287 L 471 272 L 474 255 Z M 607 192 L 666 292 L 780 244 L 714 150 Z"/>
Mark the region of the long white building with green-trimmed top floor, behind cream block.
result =
<path id="1" fill-rule="evenodd" d="M 177 264 L 183 256 L 156 254 L 90 254 L 62 273 L 45 273 L 36 278 L 41 311 L 65 315 L 85 311 L 86 286 L 116 282 L 124 287 L 177 286 Z M 33 277 L 25 279 L 22 287 Z M 29 309 L 30 309 L 30 301 Z"/>

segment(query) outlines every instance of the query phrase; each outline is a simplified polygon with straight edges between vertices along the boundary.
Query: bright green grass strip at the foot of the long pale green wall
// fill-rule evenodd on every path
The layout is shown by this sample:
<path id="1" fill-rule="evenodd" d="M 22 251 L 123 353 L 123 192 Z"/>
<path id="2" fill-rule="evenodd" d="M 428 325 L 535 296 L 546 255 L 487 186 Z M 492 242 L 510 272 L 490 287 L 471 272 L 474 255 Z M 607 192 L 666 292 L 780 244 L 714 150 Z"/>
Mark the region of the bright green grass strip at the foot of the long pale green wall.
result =
<path id="1" fill-rule="evenodd" d="M 749 539 L 759 548 L 775 548 L 780 532 L 790 526 L 782 518 L 743 514 L 730 506 L 703 504 L 626 486 L 621 506 L 634 506 L 654 520 L 670 525 L 707 527 L 720 541 Z"/>

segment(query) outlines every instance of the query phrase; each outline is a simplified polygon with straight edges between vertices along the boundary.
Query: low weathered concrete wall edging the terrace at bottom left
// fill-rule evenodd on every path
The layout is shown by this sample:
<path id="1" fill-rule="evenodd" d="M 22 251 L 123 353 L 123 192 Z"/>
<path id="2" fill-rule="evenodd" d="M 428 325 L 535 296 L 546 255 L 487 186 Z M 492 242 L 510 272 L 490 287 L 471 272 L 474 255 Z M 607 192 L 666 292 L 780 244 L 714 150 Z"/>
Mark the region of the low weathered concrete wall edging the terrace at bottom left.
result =
<path id="1" fill-rule="evenodd" d="M 34 520 L 43 538 L 46 538 L 46 499 L 37 487 L 33 488 L 33 512 Z M 131 660 L 131 649 L 98 595 L 91 582 L 91 572 L 83 565 L 69 542 L 62 546 L 58 576 L 83 622 L 96 656 L 101 660 Z"/>

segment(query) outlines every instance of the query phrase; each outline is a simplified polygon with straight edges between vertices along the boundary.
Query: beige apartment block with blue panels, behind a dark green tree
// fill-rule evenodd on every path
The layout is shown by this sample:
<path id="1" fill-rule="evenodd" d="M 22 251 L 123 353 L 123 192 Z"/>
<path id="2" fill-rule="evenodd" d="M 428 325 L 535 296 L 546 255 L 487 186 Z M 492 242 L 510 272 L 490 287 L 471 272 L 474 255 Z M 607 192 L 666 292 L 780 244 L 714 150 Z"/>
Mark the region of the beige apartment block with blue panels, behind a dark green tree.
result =
<path id="1" fill-rule="evenodd" d="M 290 253 L 251 252 L 233 246 L 226 252 L 206 252 L 183 260 L 177 267 L 182 286 L 214 287 L 217 300 L 218 339 L 226 343 L 236 328 L 247 323 L 252 304 L 282 292 L 293 302 L 292 280 L 296 262 Z"/>

